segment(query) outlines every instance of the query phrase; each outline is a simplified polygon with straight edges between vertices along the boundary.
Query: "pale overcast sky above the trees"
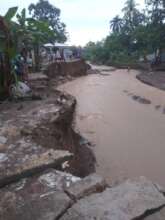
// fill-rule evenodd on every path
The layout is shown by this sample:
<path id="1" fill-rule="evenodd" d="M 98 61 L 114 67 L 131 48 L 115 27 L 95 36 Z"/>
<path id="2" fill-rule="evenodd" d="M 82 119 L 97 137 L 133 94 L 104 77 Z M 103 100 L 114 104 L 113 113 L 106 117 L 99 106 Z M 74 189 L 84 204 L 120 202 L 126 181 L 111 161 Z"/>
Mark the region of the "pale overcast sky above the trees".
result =
<path id="1" fill-rule="evenodd" d="M 120 15 L 125 0 L 49 0 L 61 9 L 61 19 L 67 25 L 69 43 L 85 45 L 89 41 L 98 41 L 109 33 L 109 21 Z M 20 9 L 37 0 L 3 0 L 0 14 L 9 7 L 19 6 Z M 144 0 L 137 0 L 141 6 Z"/>

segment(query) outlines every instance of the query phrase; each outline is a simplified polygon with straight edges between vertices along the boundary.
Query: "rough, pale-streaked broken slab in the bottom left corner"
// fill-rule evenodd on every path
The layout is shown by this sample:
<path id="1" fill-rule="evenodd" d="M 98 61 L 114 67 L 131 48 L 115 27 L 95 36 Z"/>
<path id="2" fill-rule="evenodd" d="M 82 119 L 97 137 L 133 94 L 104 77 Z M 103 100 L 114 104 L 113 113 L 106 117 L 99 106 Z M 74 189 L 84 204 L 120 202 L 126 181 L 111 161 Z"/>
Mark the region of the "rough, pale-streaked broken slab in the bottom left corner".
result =
<path id="1" fill-rule="evenodd" d="M 0 190 L 0 220 L 55 220 L 71 205 L 63 185 L 74 176 L 50 170 Z"/>

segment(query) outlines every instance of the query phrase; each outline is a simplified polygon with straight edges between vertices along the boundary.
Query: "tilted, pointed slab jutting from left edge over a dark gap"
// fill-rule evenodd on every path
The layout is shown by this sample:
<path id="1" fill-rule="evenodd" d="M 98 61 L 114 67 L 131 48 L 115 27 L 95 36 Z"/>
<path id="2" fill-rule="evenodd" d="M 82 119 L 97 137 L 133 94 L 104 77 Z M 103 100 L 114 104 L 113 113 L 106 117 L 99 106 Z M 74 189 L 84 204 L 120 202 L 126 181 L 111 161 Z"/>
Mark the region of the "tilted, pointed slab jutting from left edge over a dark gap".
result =
<path id="1" fill-rule="evenodd" d="M 59 167 L 71 158 L 68 151 L 46 149 L 21 139 L 0 155 L 0 187 L 47 168 Z"/>

